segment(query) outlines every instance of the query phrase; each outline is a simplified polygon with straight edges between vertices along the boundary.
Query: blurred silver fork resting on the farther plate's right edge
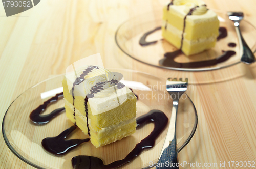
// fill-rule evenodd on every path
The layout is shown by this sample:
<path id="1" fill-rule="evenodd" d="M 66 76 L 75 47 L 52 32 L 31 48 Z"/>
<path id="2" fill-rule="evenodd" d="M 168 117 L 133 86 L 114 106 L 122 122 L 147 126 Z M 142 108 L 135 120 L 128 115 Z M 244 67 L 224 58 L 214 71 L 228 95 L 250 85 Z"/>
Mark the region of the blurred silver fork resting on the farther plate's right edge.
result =
<path id="1" fill-rule="evenodd" d="M 245 42 L 241 31 L 239 29 L 239 22 L 243 19 L 243 12 L 228 12 L 228 18 L 234 22 L 234 26 L 238 35 L 239 45 L 240 45 L 240 53 L 241 53 L 241 62 L 245 64 L 251 64 L 255 62 L 255 56 L 247 43 Z"/>

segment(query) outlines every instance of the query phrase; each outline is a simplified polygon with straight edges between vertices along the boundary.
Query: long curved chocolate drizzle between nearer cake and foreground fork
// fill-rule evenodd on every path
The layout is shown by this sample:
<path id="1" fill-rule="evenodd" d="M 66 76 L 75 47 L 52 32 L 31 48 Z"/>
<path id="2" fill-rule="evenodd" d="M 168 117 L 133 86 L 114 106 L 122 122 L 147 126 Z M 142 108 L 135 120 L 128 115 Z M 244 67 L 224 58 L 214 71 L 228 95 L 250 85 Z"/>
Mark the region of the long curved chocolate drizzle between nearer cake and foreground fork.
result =
<path id="1" fill-rule="evenodd" d="M 116 168 L 123 164 L 126 164 L 133 160 L 136 156 L 138 156 L 144 149 L 152 148 L 155 145 L 156 138 L 160 135 L 163 131 L 165 126 L 167 125 L 168 118 L 165 114 L 160 110 L 151 110 L 147 114 L 140 116 L 136 119 L 137 121 L 137 128 L 141 127 L 146 122 L 153 122 L 155 127 L 153 131 L 148 135 L 146 138 L 141 140 L 135 148 L 122 160 L 118 160 L 112 162 L 108 165 L 104 165 L 103 161 L 100 158 L 93 157 L 93 156 L 75 156 L 72 158 L 72 165 L 75 169 L 90 169 L 90 168 L 97 168 L 97 169 L 110 169 Z"/>

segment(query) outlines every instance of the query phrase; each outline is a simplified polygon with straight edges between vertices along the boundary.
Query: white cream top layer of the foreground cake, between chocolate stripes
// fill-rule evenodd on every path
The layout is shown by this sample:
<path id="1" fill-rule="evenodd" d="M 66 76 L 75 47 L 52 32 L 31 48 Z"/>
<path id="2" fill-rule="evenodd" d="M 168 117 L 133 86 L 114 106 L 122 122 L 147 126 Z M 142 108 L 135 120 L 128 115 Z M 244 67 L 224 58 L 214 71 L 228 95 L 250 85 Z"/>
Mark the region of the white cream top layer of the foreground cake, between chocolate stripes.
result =
<path id="1" fill-rule="evenodd" d="M 76 77 L 80 77 L 80 74 L 82 74 L 83 70 L 85 70 L 86 68 L 87 67 L 78 69 L 76 71 L 76 74 L 70 73 L 70 74 L 66 75 L 68 88 L 70 91 L 72 90 L 73 83 L 76 80 Z M 99 69 L 96 69 L 96 68 L 92 69 L 92 72 L 89 72 L 88 75 L 85 76 L 86 80 L 84 82 L 80 83 L 79 85 L 75 85 L 74 96 L 82 96 L 85 98 L 90 93 L 90 90 L 88 90 L 88 89 L 93 87 L 97 82 L 105 81 L 104 79 L 97 81 L 97 79 L 93 79 L 93 77 L 105 76 L 106 73 L 108 73 L 108 72 L 110 72 L 110 71 L 107 69 L 104 69 L 104 68 L 100 68 L 100 67 L 99 67 Z M 109 75 L 106 75 L 106 76 L 109 76 Z M 113 78 L 113 77 L 111 77 L 111 78 Z M 91 80 L 91 79 L 93 79 L 93 80 Z M 119 80 L 121 80 L 121 79 L 118 79 L 118 81 Z M 91 85 L 91 82 L 94 85 Z M 94 97 L 89 98 L 88 102 L 90 104 L 92 114 L 98 115 L 98 114 L 101 114 L 102 112 L 109 111 L 113 108 L 118 107 L 120 104 L 125 102 L 126 99 L 132 99 L 133 97 L 134 97 L 134 95 L 129 88 L 124 87 L 124 88 L 118 89 L 116 86 L 112 86 L 112 87 L 105 87 L 105 89 L 100 90 L 100 92 L 94 94 Z"/>

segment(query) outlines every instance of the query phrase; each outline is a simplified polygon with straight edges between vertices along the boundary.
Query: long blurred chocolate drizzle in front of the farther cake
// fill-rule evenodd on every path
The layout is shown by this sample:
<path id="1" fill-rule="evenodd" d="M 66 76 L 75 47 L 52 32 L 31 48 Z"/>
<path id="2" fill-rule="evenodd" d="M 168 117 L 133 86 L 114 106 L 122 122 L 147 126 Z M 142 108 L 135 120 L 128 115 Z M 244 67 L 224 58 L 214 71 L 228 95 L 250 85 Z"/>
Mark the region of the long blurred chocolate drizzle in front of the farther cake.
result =
<path id="1" fill-rule="evenodd" d="M 205 66 L 213 66 L 221 62 L 225 62 L 230 57 L 232 57 L 232 55 L 236 54 L 235 51 L 228 50 L 228 51 L 223 51 L 223 54 L 215 59 L 198 61 L 198 62 L 178 63 L 174 59 L 181 53 L 182 53 L 181 50 L 165 53 L 164 58 L 159 61 L 159 64 L 163 66 L 174 67 L 174 68 L 199 68 L 199 67 L 205 67 Z"/>

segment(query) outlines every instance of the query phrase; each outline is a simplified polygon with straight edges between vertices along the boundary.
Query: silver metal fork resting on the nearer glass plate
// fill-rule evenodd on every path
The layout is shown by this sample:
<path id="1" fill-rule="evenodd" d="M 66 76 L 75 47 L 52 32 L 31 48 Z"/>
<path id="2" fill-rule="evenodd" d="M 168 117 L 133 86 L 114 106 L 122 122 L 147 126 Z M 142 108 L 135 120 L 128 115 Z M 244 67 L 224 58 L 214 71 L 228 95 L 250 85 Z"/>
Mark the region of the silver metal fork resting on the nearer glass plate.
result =
<path id="1" fill-rule="evenodd" d="M 158 159 L 160 167 L 157 166 L 156 169 L 165 168 L 179 168 L 178 163 L 178 149 L 177 149 L 177 138 L 176 138 L 176 119 L 178 112 L 178 103 L 181 95 L 187 90 L 188 79 L 182 81 L 182 78 L 177 80 L 177 78 L 168 78 L 166 81 L 166 90 L 169 92 L 170 96 L 173 98 L 173 109 L 172 117 L 170 118 L 170 124 L 167 131 L 167 135 L 163 144 L 161 154 Z M 167 166 L 167 163 L 169 166 Z M 163 164 L 163 165 L 162 165 Z M 175 164 L 175 165 L 174 165 Z"/>

